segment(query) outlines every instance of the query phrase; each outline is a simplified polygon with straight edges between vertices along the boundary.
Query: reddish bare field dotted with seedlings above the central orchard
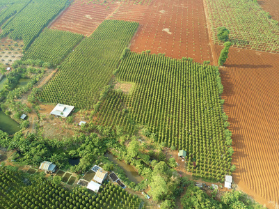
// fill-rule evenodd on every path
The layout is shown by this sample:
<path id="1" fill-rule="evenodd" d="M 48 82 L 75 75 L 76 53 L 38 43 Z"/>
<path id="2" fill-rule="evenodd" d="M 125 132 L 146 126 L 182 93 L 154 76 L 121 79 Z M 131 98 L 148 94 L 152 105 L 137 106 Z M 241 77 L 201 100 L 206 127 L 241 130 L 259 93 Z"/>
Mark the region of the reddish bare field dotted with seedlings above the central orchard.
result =
<path id="1" fill-rule="evenodd" d="M 150 49 L 177 59 L 189 56 L 197 62 L 212 60 L 202 0 L 155 0 L 146 7 L 131 42 L 132 52 Z M 113 17 L 120 18 L 118 12 Z"/>

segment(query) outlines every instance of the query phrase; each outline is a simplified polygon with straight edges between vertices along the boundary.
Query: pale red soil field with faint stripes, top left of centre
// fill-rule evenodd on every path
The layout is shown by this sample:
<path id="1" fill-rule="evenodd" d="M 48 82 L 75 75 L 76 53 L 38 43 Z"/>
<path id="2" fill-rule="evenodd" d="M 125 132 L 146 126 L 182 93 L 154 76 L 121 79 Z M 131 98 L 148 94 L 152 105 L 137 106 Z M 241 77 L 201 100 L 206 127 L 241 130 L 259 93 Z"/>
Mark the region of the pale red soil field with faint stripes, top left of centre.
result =
<path id="1" fill-rule="evenodd" d="M 118 8 L 120 3 L 106 5 L 76 0 L 50 26 L 51 29 L 70 31 L 90 36 L 91 33 Z"/>

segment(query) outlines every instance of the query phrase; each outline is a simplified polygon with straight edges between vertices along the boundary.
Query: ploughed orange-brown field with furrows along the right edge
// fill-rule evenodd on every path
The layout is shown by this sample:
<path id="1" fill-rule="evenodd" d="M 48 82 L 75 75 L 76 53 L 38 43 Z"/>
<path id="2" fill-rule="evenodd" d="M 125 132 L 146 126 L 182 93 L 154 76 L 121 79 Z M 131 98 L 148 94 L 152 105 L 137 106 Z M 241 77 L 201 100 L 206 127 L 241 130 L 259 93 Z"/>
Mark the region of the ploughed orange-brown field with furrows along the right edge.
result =
<path id="1" fill-rule="evenodd" d="M 222 47 L 214 46 L 214 57 Z M 240 190 L 268 208 L 279 206 L 279 54 L 230 48 L 221 68 L 224 110 Z M 277 205 L 276 205 L 277 204 Z"/>

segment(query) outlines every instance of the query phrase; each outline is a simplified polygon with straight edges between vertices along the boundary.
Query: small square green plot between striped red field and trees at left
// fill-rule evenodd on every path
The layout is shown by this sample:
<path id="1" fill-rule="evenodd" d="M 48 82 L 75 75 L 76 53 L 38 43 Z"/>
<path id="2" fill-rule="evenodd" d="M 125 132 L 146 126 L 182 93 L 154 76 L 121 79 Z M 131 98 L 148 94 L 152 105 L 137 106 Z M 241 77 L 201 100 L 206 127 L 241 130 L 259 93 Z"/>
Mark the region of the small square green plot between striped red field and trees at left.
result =
<path id="1" fill-rule="evenodd" d="M 76 46 L 83 36 L 78 33 L 45 29 L 24 52 L 23 60 L 33 59 L 58 65 Z"/>

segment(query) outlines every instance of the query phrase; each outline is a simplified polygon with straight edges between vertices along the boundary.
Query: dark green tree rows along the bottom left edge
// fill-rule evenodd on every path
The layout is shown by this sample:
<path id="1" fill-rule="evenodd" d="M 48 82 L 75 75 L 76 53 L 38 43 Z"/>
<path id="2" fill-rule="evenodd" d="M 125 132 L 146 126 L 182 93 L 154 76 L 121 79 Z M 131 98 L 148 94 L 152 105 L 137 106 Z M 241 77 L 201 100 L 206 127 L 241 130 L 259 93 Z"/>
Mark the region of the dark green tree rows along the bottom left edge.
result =
<path id="1" fill-rule="evenodd" d="M 68 192 L 45 178 L 22 182 L 22 173 L 0 167 L 0 208 L 138 208 L 141 199 L 118 185 L 103 185 L 99 194 L 76 187 Z"/>

